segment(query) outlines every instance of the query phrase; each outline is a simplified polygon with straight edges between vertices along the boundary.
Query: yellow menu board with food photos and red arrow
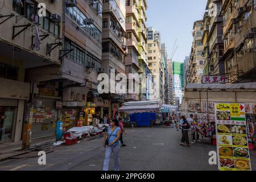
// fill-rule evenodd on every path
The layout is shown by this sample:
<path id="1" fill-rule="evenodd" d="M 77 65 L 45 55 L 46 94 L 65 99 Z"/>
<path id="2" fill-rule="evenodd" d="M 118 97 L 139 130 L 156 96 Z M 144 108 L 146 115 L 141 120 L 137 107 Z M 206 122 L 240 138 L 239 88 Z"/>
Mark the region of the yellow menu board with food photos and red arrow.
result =
<path id="1" fill-rule="evenodd" d="M 215 103 L 218 168 L 250 171 L 245 104 Z"/>

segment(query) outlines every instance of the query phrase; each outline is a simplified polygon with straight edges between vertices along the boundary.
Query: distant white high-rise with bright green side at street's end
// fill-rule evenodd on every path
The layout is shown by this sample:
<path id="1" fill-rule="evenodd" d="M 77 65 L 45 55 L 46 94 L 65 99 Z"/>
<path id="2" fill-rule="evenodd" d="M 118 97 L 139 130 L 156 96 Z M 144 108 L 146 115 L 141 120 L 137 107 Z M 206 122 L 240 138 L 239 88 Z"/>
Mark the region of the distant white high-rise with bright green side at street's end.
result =
<path id="1" fill-rule="evenodd" d="M 174 105 L 180 106 L 184 96 L 184 63 L 172 62 L 173 83 L 174 83 Z"/>

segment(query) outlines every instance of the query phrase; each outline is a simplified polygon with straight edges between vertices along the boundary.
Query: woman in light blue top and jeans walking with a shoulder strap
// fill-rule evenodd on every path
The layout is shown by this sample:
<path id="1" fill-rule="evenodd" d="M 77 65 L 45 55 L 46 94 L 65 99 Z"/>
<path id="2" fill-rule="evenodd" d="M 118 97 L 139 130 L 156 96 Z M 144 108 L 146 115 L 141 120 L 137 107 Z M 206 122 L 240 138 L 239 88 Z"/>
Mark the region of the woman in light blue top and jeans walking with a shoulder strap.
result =
<path id="1" fill-rule="evenodd" d="M 110 156 L 113 153 L 114 155 L 114 171 L 119 171 L 119 150 L 120 150 L 120 143 L 119 138 L 121 135 L 121 129 L 118 127 L 118 120 L 113 119 L 110 121 L 110 127 L 106 134 L 103 146 L 106 147 L 105 152 L 105 160 L 103 171 L 109 171 L 109 161 Z"/>

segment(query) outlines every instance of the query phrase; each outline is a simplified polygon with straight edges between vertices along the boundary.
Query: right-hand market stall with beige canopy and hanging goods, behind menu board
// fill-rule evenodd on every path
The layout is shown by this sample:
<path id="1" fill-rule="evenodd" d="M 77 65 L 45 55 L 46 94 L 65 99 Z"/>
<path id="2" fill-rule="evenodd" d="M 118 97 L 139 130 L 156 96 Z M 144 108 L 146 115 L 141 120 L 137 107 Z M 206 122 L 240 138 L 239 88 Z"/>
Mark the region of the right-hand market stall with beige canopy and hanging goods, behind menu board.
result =
<path id="1" fill-rule="evenodd" d="M 254 96 L 254 97 L 252 97 Z M 189 117 L 195 116 L 195 121 L 200 126 L 202 137 L 209 138 L 210 143 L 216 143 L 216 129 L 214 117 L 214 103 L 244 103 L 252 108 L 256 103 L 256 83 L 246 84 L 187 84 L 184 99 L 181 104 L 181 114 Z M 247 111 L 247 110 L 246 110 Z M 251 112 L 251 111 L 250 111 Z M 255 142 L 255 109 L 253 115 L 248 115 L 247 125 L 251 132 L 251 143 Z M 226 117 L 222 115 L 221 117 Z M 253 135 L 253 137 L 251 137 Z"/>

